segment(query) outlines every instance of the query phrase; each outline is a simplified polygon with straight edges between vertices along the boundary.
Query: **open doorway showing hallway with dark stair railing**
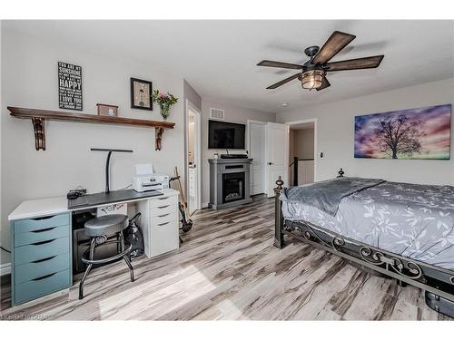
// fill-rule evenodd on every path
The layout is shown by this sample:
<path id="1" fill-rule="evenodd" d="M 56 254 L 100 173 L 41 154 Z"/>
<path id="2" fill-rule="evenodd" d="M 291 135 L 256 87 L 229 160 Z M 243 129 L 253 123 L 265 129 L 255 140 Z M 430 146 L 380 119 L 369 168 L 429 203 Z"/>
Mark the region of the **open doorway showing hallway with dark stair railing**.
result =
<path id="1" fill-rule="evenodd" d="M 316 120 L 292 121 L 289 132 L 289 186 L 315 181 Z"/>

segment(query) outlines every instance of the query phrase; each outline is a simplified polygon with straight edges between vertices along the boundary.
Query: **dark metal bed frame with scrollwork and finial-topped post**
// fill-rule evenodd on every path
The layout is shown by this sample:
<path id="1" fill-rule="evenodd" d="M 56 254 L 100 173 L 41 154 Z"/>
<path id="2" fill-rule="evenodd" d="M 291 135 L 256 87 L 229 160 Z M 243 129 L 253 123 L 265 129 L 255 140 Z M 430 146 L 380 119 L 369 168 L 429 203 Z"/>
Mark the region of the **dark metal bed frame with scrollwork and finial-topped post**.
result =
<path id="1" fill-rule="evenodd" d="M 354 264 L 370 268 L 380 274 L 393 277 L 401 283 L 407 283 L 432 293 L 435 299 L 443 298 L 449 301 L 449 312 L 454 307 L 454 271 L 442 267 L 432 266 L 410 257 L 402 257 L 389 251 L 371 247 L 365 243 L 351 238 L 345 238 L 325 228 L 318 227 L 307 221 L 290 221 L 282 217 L 281 189 L 283 181 L 281 176 L 276 180 L 275 192 L 275 227 L 274 246 L 284 247 L 284 235 L 291 236 L 311 244 L 314 247 L 329 251 L 343 257 Z M 426 302 L 427 302 L 426 295 Z M 452 305 L 451 305 L 452 304 Z M 432 307 L 432 306 L 430 306 Z M 432 307 L 433 308 L 433 307 Z M 438 308 L 435 308 L 437 311 Z M 454 310 L 454 309 L 453 309 Z"/>

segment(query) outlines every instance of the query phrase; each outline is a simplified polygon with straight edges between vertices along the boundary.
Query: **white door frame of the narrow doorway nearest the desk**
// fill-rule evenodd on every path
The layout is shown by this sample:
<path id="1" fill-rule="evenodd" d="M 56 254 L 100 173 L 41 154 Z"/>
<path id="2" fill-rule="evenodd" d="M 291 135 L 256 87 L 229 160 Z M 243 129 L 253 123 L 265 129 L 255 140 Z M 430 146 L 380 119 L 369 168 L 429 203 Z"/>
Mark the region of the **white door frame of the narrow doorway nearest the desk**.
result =
<path id="1" fill-rule="evenodd" d="M 194 150 L 196 151 L 195 165 L 197 171 L 197 188 L 195 198 L 195 210 L 202 209 L 202 112 L 199 110 L 189 99 L 186 99 L 186 153 L 185 153 L 185 170 L 188 173 L 188 180 L 186 180 L 186 196 L 189 201 L 189 111 L 195 112 L 195 142 Z"/>

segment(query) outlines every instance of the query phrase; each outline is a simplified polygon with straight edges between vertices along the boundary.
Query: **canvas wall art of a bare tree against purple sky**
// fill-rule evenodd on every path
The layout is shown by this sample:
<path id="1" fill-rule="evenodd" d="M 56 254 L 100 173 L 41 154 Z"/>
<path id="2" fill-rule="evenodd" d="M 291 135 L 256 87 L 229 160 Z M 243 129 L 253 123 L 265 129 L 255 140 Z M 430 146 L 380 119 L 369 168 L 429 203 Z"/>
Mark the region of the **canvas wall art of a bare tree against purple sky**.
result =
<path id="1" fill-rule="evenodd" d="M 355 117 L 355 158 L 449 160 L 451 105 Z"/>

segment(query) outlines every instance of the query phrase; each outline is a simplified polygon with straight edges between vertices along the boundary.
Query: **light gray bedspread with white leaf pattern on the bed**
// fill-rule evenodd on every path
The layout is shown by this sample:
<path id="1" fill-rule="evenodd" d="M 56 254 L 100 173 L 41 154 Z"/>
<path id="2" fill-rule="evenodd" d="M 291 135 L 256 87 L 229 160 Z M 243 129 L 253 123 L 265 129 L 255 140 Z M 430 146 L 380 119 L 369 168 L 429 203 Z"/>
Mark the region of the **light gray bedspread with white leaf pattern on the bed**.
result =
<path id="1" fill-rule="evenodd" d="M 284 219 L 305 220 L 344 237 L 454 270 L 454 187 L 385 181 L 341 200 L 335 216 L 282 201 Z"/>

